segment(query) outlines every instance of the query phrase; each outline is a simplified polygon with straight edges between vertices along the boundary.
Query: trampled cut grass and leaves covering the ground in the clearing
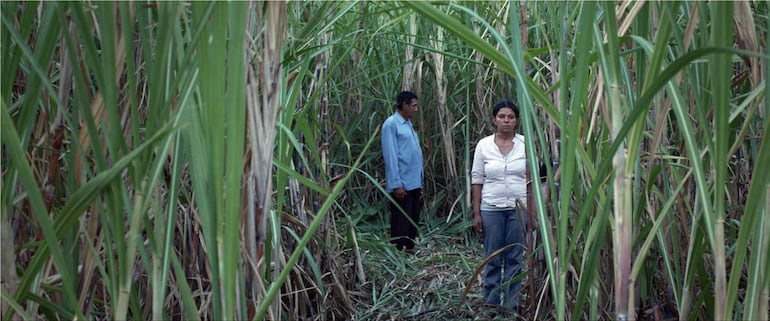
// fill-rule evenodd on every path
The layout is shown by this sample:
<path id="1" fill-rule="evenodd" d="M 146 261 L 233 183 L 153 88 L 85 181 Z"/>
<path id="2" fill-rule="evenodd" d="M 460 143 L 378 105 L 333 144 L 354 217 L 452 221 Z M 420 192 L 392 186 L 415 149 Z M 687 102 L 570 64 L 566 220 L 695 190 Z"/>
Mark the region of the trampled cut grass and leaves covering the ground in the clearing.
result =
<path id="1" fill-rule="evenodd" d="M 367 320 L 474 320 L 482 303 L 479 278 L 473 276 L 483 251 L 478 240 L 467 243 L 445 233 L 423 232 L 413 253 L 389 244 L 369 252 L 364 257 L 370 278 L 365 288 L 371 294 L 356 315 Z M 462 296 L 469 283 L 470 294 Z"/>

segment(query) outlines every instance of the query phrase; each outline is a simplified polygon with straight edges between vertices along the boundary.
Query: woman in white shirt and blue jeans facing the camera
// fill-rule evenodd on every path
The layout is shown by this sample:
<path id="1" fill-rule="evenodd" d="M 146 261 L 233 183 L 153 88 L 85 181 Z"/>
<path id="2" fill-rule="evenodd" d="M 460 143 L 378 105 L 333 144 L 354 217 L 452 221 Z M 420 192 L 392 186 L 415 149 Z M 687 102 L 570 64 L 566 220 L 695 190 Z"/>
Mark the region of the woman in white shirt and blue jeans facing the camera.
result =
<path id="1" fill-rule="evenodd" d="M 524 205 L 528 204 L 529 171 L 524 136 L 516 134 L 519 107 L 503 100 L 492 109 L 497 130 L 476 144 L 471 170 L 473 228 L 484 240 L 484 256 L 509 246 L 484 267 L 485 302 L 515 309 L 519 304 L 519 274 L 524 248 Z M 520 220 L 521 219 L 521 220 Z"/>

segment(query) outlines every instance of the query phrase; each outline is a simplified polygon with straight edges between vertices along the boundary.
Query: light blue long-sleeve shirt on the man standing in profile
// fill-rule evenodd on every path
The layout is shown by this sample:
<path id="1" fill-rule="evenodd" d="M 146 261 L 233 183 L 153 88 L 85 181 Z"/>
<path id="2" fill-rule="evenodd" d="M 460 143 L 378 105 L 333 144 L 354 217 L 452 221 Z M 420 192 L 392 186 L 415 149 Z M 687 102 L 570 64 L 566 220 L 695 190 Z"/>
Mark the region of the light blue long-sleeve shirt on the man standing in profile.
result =
<path id="1" fill-rule="evenodd" d="M 385 185 L 390 193 L 422 188 L 422 150 L 412 122 L 398 112 L 382 124 L 382 156 L 385 159 Z"/>

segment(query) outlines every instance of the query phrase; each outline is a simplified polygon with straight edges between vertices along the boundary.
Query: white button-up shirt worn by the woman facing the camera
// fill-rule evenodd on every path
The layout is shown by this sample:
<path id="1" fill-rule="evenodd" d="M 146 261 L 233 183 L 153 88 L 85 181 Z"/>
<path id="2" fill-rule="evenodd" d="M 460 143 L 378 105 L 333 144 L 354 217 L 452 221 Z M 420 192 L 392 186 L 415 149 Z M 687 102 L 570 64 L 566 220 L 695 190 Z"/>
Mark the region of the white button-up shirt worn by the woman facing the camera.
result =
<path id="1" fill-rule="evenodd" d="M 513 137 L 513 149 L 500 153 L 495 135 L 479 140 L 473 154 L 471 184 L 481 184 L 481 209 L 516 208 L 516 200 L 527 204 L 527 156 L 524 136 Z"/>

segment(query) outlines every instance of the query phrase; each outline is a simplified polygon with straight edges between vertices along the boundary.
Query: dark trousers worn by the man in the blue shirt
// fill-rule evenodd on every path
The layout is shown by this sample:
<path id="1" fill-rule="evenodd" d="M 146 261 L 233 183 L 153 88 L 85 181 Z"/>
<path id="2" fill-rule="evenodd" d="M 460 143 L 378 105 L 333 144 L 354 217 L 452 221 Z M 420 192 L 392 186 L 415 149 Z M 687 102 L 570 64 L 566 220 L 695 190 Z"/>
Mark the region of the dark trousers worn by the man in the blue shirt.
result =
<path id="1" fill-rule="evenodd" d="M 414 239 L 417 238 L 417 223 L 420 222 L 420 208 L 422 207 L 421 192 L 422 189 L 420 188 L 407 191 L 406 197 L 403 199 L 393 197 L 398 203 L 397 205 L 390 203 L 390 242 L 399 250 L 414 248 Z M 401 209 L 406 212 L 409 218 L 404 216 Z"/>

